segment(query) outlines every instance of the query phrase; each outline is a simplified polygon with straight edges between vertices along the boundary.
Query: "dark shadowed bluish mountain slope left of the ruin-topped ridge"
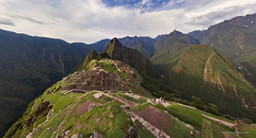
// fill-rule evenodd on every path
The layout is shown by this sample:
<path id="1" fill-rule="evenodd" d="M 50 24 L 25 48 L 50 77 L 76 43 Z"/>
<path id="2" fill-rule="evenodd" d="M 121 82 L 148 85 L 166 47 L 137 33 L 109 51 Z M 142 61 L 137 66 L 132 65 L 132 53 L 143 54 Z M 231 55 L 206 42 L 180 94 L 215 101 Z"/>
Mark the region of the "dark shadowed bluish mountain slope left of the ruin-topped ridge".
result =
<path id="1" fill-rule="evenodd" d="M 0 29 L 0 136 L 29 101 L 69 74 L 88 47 Z"/>

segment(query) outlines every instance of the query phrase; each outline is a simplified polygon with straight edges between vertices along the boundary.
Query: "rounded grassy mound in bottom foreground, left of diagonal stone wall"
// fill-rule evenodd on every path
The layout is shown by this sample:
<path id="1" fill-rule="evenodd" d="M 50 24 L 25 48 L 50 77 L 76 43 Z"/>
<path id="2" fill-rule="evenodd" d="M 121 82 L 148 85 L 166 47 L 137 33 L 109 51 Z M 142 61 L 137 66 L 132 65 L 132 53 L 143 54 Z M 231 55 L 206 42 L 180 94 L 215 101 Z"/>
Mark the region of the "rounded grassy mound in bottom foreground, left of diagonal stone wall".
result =
<path id="1" fill-rule="evenodd" d="M 96 121 L 101 117 L 99 123 Z M 124 132 L 132 126 L 133 122 L 130 116 L 123 112 L 122 108 L 114 101 L 104 106 L 99 106 L 96 109 L 89 110 L 86 114 L 79 116 L 77 119 L 69 117 L 68 122 L 64 127 L 70 128 L 73 133 L 80 132 L 86 136 L 90 136 L 97 129 L 104 137 L 122 137 Z M 76 129 L 76 124 L 82 127 Z"/>

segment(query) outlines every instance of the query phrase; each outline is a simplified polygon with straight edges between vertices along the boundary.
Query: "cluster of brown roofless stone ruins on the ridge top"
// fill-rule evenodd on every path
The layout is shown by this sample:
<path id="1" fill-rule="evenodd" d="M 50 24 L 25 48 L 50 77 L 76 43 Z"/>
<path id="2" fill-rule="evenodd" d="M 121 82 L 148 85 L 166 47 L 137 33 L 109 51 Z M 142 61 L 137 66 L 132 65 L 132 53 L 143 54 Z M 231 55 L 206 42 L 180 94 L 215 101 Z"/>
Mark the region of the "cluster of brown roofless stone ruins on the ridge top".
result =
<path id="1" fill-rule="evenodd" d="M 124 64 L 120 61 L 111 61 L 113 65 L 116 66 L 117 70 L 126 75 L 127 78 L 125 81 L 134 80 L 134 72 L 131 70 L 131 67 L 127 64 Z M 74 73 L 76 79 L 73 79 L 71 85 L 64 86 L 64 91 L 69 91 L 72 89 L 79 89 L 79 90 L 99 90 L 99 91 L 106 91 L 106 90 L 122 90 L 122 91 L 129 91 L 129 87 L 125 85 L 124 81 L 122 80 L 121 76 L 117 73 L 113 72 L 106 72 L 105 70 L 101 69 L 99 66 L 93 68 L 92 71 L 82 71 Z M 65 77 L 64 81 L 71 81 L 69 77 Z M 76 81 L 74 81 L 76 80 Z"/>

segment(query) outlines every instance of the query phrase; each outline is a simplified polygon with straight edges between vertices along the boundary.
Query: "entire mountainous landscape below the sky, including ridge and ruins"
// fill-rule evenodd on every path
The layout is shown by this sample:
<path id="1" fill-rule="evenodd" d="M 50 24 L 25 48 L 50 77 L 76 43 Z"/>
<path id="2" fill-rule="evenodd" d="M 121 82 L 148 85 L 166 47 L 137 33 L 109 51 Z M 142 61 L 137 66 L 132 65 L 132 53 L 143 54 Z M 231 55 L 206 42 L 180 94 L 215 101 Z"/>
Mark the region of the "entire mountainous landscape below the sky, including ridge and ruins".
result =
<path id="1" fill-rule="evenodd" d="M 255 18 L 91 44 L 1 29 L 0 136 L 256 137 Z"/>

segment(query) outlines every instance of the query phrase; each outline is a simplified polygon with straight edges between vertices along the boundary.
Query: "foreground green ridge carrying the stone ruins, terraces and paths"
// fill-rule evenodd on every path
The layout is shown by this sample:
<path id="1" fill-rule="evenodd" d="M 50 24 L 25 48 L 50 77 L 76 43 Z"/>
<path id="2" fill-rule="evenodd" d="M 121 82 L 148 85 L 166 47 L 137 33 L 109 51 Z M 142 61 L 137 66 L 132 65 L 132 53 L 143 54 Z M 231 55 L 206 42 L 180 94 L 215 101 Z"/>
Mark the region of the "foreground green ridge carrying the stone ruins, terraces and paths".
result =
<path id="1" fill-rule="evenodd" d="M 87 59 L 95 53 L 91 51 Z M 225 137 L 223 132 L 235 132 L 235 124 L 239 124 L 239 130 L 256 132 L 247 124 L 154 98 L 151 91 L 141 86 L 143 82 L 150 83 L 160 92 L 151 81 L 153 78 L 140 75 L 121 61 L 101 58 L 82 68 L 34 99 L 5 138 Z M 176 92 L 168 92 L 173 93 Z"/>

